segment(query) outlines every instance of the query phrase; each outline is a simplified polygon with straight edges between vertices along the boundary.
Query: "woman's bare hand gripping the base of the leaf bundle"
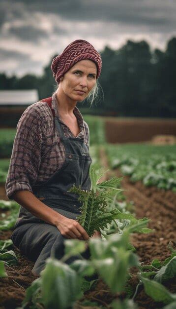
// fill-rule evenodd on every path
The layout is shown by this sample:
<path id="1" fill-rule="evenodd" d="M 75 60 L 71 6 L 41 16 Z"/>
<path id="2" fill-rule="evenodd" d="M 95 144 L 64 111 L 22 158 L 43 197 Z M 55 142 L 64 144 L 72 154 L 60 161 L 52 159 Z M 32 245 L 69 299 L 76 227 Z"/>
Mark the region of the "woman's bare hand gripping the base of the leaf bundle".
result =
<path id="1" fill-rule="evenodd" d="M 63 217 L 56 224 L 56 227 L 63 237 L 78 238 L 81 240 L 89 239 L 88 233 L 76 220 Z"/>

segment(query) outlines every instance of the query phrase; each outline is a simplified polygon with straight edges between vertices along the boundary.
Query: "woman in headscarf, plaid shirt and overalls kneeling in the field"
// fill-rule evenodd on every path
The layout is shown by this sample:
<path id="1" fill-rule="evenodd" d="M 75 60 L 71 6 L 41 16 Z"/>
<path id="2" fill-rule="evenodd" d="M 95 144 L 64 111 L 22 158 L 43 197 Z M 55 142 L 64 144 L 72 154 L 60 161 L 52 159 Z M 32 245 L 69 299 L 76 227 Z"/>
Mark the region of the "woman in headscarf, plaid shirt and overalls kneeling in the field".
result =
<path id="1" fill-rule="evenodd" d="M 86 40 L 70 43 L 52 62 L 57 91 L 29 106 L 17 125 L 5 187 L 7 197 L 21 205 L 11 239 L 35 262 L 33 274 L 50 255 L 63 256 L 65 238 L 89 238 L 75 220 L 78 196 L 68 190 L 73 184 L 90 189 L 89 130 L 76 105 L 95 88 L 101 64 Z"/>

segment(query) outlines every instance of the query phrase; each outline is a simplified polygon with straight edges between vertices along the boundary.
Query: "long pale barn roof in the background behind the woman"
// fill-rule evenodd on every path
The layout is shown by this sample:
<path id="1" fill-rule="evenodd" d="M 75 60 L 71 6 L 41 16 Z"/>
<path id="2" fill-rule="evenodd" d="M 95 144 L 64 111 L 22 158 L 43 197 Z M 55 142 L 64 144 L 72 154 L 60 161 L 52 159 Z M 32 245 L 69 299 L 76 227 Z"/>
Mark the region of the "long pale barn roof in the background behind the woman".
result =
<path id="1" fill-rule="evenodd" d="M 38 100 L 36 89 L 0 90 L 0 105 L 30 105 Z"/>

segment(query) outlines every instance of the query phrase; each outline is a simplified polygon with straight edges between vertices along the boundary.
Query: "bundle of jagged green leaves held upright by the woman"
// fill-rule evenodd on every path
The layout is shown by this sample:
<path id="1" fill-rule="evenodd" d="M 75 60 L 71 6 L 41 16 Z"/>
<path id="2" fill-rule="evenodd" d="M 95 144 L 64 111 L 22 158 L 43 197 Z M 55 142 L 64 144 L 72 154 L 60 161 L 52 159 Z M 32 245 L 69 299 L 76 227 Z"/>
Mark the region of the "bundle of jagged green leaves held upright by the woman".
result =
<path id="1" fill-rule="evenodd" d="M 124 191 L 117 188 L 123 177 L 113 177 L 110 180 L 98 183 L 104 173 L 102 170 L 95 171 L 93 166 L 90 165 L 90 190 L 85 191 L 81 189 L 81 186 L 77 188 L 75 185 L 69 190 L 69 192 L 79 195 L 78 200 L 82 202 L 82 206 L 80 207 L 81 214 L 76 220 L 84 227 L 90 237 L 94 230 L 100 231 L 101 229 L 104 231 L 107 224 L 111 224 L 113 220 L 118 218 L 119 211 L 117 208 L 114 207 L 110 210 L 109 205 L 117 192 Z"/>

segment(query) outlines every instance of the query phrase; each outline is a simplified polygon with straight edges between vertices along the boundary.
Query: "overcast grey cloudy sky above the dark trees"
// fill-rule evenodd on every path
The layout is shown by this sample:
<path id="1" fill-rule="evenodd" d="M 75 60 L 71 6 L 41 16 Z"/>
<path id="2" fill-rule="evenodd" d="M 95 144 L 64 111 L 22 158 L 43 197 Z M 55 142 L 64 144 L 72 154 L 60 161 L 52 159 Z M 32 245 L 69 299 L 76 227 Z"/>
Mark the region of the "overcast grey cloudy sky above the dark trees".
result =
<path id="1" fill-rule="evenodd" d="M 75 39 L 101 51 L 127 39 L 165 50 L 176 36 L 176 0 L 0 0 L 0 72 L 41 75 Z"/>

